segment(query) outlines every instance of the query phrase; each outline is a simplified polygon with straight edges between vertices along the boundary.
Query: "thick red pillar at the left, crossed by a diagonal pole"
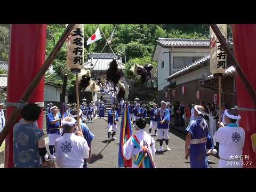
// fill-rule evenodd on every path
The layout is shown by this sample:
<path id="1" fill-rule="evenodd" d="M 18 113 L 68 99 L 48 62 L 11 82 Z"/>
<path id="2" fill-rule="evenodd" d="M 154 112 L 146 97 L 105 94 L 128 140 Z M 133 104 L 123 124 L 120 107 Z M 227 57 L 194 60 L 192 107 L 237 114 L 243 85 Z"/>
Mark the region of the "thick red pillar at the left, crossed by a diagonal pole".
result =
<path id="1" fill-rule="evenodd" d="M 46 24 L 11 25 L 7 101 L 18 102 L 45 61 Z M 28 102 L 44 101 L 44 78 Z M 9 118 L 13 107 L 7 108 Z M 38 119 L 43 128 L 43 113 Z M 5 167 L 13 167 L 13 130 L 5 139 Z"/>

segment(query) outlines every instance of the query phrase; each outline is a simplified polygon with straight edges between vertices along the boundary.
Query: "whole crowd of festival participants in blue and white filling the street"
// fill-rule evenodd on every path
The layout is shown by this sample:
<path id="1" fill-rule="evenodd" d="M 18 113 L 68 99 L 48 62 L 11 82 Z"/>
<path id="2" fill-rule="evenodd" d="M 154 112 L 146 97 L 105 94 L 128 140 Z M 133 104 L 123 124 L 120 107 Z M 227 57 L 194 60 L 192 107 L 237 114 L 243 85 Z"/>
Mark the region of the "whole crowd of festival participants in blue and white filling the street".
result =
<path id="1" fill-rule="evenodd" d="M 111 142 L 116 139 L 114 135 L 120 127 L 119 118 L 125 110 L 126 102 L 121 99 L 114 105 L 114 91 L 111 91 L 108 85 L 102 86 L 101 82 L 98 83 L 101 85 L 103 95 L 110 94 L 111 98 L 106 135 Z M 135 98 L 134 101 L 127 101 L 135 134 L 124 143 L 123 156 L 127 160 L 132 159 L 132 167 L 156 167 L 154 155 L 163 152 L 163 143 L 165 143 L 166 150 L 171 151 L 169 131 L 173 127 L 184 129 L 187 132 L 185 158 L 189 157 L 191 167 L 209 167 L 207 155 L 217 154 L 216 149 L 220 157 L 218 167 L 243 167 L 241 163 L 243 160 L 240 158 L 230 159 L 230 157 L 242 156 L 245 140 L 245 132 L 238 124 L 241 116 L 236 108 L 229 108 L 223 103 L 219 109 L 215 103 L 205 105 L 204 101 L 201 101 L 199 105 L 188 105 L 178 101 L 171 104 L 161 101 L 159 106 L 157 103 L 148 106 L 145 102 L 138 100 Z M 42 162 L 55 159 L 57 166 L 61 168 L 86 168 L 91 158 L 91 142 L 94 138 L 89 127 L 95 117 L 105 117 L 105 105 L 106 99 L 101 96 L 98 101 L 83 102 L 77 113 L 76 104 L 67 103 L 61 119 L 58 107 L 49 103 L 46 108 L 48 153 L 45 147 L 44 132 L 38 128 L 36 123 L 42 113 L 41 108 L 34 103 L 27 104 L 21 111 L 21 121 L 15 124 L 13 129 L 14 167 L 42 167 Z M 77 121 L 81 129 L 78 129 Z M 149 123 L 149 130 L 145 129 L 147 123 Z M 158 150 L 155 148 L 153 137 L 157 137 L 159 141 Z M 218 147 L 217 143 L 219 143 Z M 29 153 L 29 150 L 33 151 L 33 155 Z M 20 155 L 21 153 L 24 154 Z"/>

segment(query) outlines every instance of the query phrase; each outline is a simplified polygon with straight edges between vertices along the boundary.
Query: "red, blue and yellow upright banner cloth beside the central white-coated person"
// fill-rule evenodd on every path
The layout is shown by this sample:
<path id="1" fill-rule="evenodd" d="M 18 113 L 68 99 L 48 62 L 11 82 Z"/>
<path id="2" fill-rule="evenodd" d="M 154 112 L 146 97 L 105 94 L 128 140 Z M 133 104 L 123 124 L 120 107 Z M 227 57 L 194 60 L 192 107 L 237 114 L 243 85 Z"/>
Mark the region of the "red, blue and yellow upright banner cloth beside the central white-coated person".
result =
<path id="1" fill-rule="evenodd" d="M 124 143 L 131 136 L 132 136 L 132 126 L 131 126 L 130 112 L 126 106 L 122 115 L 122 122 L 120 127 L 118 167 L 132 167 L 132 159 L 126 160 L 123 156 Z"/>

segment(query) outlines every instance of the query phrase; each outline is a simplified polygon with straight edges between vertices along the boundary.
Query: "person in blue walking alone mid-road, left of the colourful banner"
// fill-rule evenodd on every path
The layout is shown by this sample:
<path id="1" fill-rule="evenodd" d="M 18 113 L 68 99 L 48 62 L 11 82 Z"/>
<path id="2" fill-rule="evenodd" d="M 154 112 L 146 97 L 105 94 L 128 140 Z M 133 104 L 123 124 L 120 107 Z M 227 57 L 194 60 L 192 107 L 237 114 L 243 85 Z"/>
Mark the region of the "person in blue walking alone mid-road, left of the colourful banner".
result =
<path id="1" fill-rule="evenodd" d="M 115 140 L 114 135 L 117 132 L 118 114 L 115 110 L 115 106 L 111 106 L 111 110 L 108 111 L 108 140 Z M 112 135 L 111 135 L 111 131 Z"/>

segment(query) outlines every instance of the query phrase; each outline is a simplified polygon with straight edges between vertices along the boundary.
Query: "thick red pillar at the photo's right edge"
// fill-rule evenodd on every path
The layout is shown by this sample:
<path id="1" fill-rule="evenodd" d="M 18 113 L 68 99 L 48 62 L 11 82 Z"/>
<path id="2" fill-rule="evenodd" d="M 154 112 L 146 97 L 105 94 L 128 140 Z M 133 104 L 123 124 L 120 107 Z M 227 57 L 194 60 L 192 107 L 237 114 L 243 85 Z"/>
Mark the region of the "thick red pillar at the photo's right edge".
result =
<path id="1" fill-rule="evenodd" d="M 234 54 L 244 74 L 256 90 L 256 25 L 233 25 Z M 246 87 L 236 74 L 237 104 L 238 107 L 256 109 Z M 252 149 L 251 135 L 256 133 L 256 111 L 239 111 L 242 119 L 239 125 L 245 130 L 245 145 L 243 155 L 249 155 L 251 167 L 256 167 L 256 154 Z M 246 160 L 247 161 L 247 160 Z M 247 166 L 244 166 L 247 167 Z"/>

